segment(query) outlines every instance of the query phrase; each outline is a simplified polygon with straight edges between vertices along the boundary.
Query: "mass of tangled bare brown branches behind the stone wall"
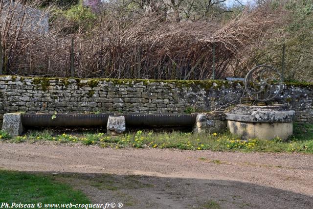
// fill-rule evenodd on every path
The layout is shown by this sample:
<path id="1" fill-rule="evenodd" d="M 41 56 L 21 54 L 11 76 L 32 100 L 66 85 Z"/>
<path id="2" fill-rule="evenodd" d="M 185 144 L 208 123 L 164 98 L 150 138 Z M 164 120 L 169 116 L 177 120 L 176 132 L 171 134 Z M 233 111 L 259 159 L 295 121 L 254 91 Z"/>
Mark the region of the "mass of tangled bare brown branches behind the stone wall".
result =
<path id="1" fill-rule="evenodd" d="M 1 17 L 5 12 L 0 10 Z M 44 18 L 47 13 L 36 17 Z M 216 78 L 241 72 L 245 70 L 243 53 L 277 22 L 262 10 L 245 11 L 226 24 L 115 15 L 98 17 L 91 29 L 66 35 L 64 28 L 70 23 L 62 18 L 53 20 L 45 32 L 12 20 L 1 18 L 0 22 L 6 73 L 70 76 L 70 55 L 74 53 L 75 77 L 147 79 L 208 79 L 213 47 Z M 42 26 L 42 22 L 36 23 Z"/>

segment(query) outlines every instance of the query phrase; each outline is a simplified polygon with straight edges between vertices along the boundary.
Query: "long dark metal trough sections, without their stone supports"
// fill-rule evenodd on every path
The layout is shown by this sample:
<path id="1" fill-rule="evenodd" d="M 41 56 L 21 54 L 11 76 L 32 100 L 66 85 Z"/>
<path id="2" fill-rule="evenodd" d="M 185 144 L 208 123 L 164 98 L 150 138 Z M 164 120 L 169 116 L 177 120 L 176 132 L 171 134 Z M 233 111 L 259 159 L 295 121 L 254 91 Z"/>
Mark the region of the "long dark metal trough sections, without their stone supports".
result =
<path id="1" fill-rule="evenodd" d="M 51 126 L 106 126 L 113 114 L 23 114 L 22 125 L 27 127 Z M 192 126 L 196 114 L 120 114 L 129 126 Z"/>

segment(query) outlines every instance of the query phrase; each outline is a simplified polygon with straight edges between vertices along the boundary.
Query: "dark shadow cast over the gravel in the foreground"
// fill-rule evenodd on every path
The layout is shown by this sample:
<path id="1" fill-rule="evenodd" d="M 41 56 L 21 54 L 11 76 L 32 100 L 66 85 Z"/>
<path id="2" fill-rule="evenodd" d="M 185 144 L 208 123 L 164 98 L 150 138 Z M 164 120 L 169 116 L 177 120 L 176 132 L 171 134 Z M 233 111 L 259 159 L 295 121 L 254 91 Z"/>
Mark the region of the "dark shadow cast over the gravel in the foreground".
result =
<path id="1" fill-rule="evenodd" d="M 92 203 L 123 203 L 123 208 L 130 209 L 313 208 L 311 196 L 239 181 L 95 173 L 30 173 L 50 176 L 80 189 Z"/>

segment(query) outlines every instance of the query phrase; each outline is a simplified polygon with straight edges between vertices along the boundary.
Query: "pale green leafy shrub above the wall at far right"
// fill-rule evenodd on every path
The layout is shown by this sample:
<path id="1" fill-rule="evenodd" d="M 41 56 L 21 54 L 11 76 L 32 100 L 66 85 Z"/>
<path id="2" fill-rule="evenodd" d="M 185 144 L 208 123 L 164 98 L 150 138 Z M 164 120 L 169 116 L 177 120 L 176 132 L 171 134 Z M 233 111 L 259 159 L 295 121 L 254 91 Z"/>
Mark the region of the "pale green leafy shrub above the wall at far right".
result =
<path id="1" fill-rule="evenodd" d="M 284 23 L 255 52 L 255 64 L 268 63 L 282 68 L 282 46 L 285 44 L 285 80 L 313 82 L 313 1 L 272 0 L 272 13 Z"/>

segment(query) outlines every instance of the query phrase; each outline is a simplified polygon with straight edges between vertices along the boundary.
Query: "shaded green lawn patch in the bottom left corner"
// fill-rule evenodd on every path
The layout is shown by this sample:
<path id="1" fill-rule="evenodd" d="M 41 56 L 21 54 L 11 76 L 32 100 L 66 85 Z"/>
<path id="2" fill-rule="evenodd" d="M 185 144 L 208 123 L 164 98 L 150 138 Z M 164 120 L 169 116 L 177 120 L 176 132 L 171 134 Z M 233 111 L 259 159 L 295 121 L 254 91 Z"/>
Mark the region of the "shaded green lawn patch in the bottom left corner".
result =
<path id="1" fill-rule="evenodd" d="M 0 170 L 0 202 L 43 204 L 87 204 L 81 191 L 43 175 Z"/>

